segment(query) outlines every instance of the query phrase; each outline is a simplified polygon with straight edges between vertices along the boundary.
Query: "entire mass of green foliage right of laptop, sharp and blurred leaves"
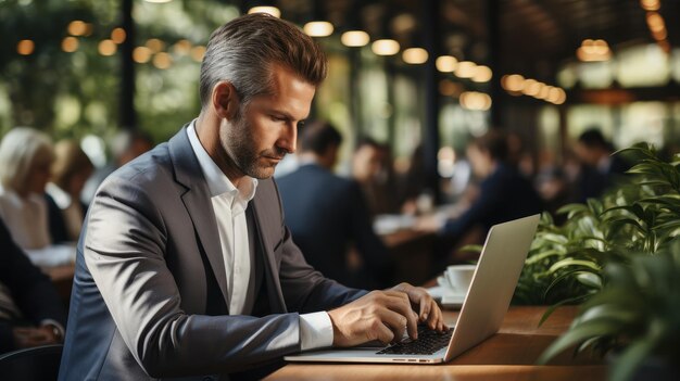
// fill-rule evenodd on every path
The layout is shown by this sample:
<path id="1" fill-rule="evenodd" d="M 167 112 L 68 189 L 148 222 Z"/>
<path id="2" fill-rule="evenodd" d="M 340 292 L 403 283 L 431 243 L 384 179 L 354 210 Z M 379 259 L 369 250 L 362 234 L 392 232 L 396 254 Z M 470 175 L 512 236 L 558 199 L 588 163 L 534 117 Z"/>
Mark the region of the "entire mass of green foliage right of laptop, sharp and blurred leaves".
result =
<path id="1" fill-rule="evenodd" d="M 622 151 L 638 156 L 627 183 L 563 207 L 562 227 L 543 216 L 515 294 L 555 303 L 543 320 L 557 305 L 583 302 L 539 361 L 574 345 L 618 348 L 610 377 L 621 381 L 647 358 L 680 360 L 680 155 L 665 162 L 646 143 Z"/>

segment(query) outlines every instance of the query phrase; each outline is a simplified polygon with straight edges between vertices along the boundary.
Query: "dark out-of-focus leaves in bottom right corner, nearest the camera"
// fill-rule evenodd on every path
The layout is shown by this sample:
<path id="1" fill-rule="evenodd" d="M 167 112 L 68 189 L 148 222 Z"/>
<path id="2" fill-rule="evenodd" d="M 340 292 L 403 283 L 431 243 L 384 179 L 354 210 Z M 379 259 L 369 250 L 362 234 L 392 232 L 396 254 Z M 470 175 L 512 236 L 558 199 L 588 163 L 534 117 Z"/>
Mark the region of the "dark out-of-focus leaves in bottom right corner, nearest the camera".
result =
<path id="1" fill-rule="evenodd" d="M 540 357 L 576 346 L 613 352 L 609 377 L 680 379 L 680 238 L 654 256 L 605 267 L 606 284 L 581 305 L 570 329 Z"/>

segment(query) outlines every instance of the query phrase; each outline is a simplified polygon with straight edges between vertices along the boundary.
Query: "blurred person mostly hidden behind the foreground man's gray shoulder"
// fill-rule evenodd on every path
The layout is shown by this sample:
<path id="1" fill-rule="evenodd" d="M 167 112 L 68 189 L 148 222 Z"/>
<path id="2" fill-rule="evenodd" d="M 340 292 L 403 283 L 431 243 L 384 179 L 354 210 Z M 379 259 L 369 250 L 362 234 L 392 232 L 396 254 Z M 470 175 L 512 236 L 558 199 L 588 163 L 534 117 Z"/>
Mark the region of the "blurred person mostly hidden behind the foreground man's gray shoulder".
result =
<path id="1" fill-rule="evenodd" d="M 118 131 L 111 141 L 111 154 L 113 160 L 97 169 L 95 174 L 88 178 L 80 192 L 80 201 L 85 205 L 89 205 L 95 198 L 97 188 L 99 188 L 109 175 L 152 148 L 153 141 L 151 137 L 142 131 L 128 129 Z"/>

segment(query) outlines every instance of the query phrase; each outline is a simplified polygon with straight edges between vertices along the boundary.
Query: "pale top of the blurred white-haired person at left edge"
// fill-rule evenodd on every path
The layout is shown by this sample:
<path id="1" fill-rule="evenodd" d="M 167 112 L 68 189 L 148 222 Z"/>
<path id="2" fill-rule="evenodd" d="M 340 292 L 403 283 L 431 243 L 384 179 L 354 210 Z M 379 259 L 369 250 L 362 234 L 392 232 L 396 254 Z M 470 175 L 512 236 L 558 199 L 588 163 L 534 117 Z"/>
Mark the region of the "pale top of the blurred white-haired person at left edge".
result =
<path id="1" fill-rule="evenodd" d="M 30 193 L 24 199 L 0 187 L 0 217 L 20 247 L 43 249 L 51 244 L 47 202 L 42 194 Z"/>

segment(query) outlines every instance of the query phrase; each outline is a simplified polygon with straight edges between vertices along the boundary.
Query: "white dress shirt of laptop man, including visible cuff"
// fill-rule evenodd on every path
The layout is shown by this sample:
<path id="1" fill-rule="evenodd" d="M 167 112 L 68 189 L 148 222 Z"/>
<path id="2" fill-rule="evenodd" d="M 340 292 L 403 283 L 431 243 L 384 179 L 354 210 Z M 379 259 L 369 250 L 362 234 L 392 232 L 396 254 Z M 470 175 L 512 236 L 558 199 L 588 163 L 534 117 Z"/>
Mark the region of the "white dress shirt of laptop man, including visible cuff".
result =
<path id="1" fill-rule="evenodd" d="M 257 180 L 244 176 L 235 187 L 210 157 L 196 132 L 194 123 L 187 128 L 187 136 L 207 182 L 211 201 L 217 220 L 217 231 L 225 258 L 229 314 L 242 315 L 254 303 L 254 258 L 248 242 L 245 208 L 255 196 Z M 325 312 L 300 315 L 300 343 L 303 351 L 332 345 L 332 325 Z"/>

